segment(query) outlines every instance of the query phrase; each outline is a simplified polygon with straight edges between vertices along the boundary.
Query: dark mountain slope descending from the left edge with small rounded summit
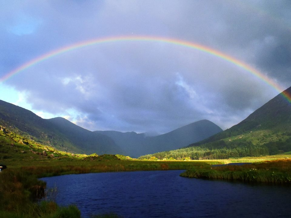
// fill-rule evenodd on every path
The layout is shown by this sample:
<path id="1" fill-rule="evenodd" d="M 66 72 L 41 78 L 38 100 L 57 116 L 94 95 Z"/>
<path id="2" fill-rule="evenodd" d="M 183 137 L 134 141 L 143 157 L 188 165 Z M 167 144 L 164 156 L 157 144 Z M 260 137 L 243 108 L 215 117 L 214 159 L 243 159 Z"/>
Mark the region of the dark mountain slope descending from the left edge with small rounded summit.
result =
<path id="1" fill-rule="evenodd" d="M 120 147 L 108 136 L 86 130 L 61 117 L 42 119 L 29 110 L 2 100 L 0 125 L 59 150 L 85 154 L 121 152 Z"/>

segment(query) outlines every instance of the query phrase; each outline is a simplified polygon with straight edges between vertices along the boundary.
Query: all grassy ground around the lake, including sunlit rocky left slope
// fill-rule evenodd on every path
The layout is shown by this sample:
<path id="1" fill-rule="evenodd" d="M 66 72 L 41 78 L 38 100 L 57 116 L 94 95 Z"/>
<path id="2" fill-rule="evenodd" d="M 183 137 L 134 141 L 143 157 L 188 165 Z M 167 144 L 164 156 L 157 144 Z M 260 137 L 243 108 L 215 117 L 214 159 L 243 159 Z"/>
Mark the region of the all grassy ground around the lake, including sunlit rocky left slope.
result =
<path id="1" fill-rule="evenodd" d="M 20 142 L 19 142 L 20 141 Z M 24 143 L 23 143 L 24 142 Z M 75 206 L 60 207 L 54 202 L 36 203 L 45 194 L 40 177 L 72 173 L 98 173 L 134 170 L 187 170 L 183 176 L 290 183 L 291 154 L 264 157 L 244 157 L 221 160 L 135 160 L 121 155 L 70 154 L 53 147 L 0 135 L 0 160 L 7 169 L 0 173 L 0 217 L 80 217 Z M 291 160 L 291 158 L 290 158 Z M 212 167 L 213 164 L 257 162 L 246 166 Z M 97 216 L 98 217 L 98 216 Z M 117 217 L 116 215 L 99 217 Z"/>

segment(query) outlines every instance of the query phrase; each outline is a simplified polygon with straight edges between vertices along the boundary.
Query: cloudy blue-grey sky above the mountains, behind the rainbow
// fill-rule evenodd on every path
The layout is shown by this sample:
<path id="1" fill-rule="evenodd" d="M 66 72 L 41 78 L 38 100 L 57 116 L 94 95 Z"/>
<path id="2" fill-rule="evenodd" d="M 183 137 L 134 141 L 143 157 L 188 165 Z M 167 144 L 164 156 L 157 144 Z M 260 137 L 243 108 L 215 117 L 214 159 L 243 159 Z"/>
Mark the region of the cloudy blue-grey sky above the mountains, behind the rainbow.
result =
<path id="1" fill-rule="evenodd" d="M 0 99 L 92 131 L 163 134 L 202 119 L 224 130 L 291 86 L 289 0 L 0 0 L 0 29 Z M 201 45 L 259 74 L 165 40 L 48 55 L 121 36 Z"/>

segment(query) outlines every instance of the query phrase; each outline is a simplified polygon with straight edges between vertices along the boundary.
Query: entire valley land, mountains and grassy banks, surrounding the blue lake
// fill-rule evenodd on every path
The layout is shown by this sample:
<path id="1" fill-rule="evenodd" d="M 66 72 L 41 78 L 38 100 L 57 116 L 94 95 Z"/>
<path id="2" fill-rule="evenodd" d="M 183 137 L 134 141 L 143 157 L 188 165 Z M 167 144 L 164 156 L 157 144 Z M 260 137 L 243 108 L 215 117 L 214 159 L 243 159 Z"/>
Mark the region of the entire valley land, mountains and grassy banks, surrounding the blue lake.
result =
<path id="1" fill-rule="evenodd" d="M 15 217 L 16 213 L 21 217 L 68 213 L 80 217 L 74 206 L 34 202 L 35 198 L 45 197 L 46 192 L 45 183 L 38 178 L 64 174 L 186 170 L 182 177 L 291 184 L 291 107 L 282 95 L 225 131 L 202 120 L 155 137 L 134 132 L 92 132 L 61 117 L 45 120 L 24 108 L 0 103 L 0 160 L 7 166 L 0 173 L 4 184 L 0 187 L 3 217 Z M 196 135 L 202 139 L 189 143 Z M 162 146 L 175 148 L 179 142 L 178 150 L 167 151 Z M 161 152 L 132 158 L 128 154 L 137 150 L 132 146 L 124 149 L 126 144 L 137 144 L 135 149 L 144 154 L 161 144 L 156 149 Z M 228 163 L 251 164 L 215 166 Z"/>

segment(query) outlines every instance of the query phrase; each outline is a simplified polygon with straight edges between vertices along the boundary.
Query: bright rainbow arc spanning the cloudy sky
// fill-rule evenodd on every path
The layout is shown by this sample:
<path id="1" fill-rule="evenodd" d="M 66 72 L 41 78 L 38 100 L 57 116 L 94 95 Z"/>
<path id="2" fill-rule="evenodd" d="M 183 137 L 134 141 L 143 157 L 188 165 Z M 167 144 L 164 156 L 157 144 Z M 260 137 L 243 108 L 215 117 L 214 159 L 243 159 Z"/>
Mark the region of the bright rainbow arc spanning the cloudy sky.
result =
<path id="1" fill-rule="evenodd" d="M 31 61 L 28 61 L 25 64 L 19 66 L 18 68 L 8 72 L 2 78 L 0 78 L 0 83 L 11 78 L 15 74 L 18 74 L 19 72 L 24 71 L 25 69 L 32 67 L 33 65 L 35 65 L 37 63 L 40 63 L 40 62 L 45 61 L 49 58 L 55 57 L 59 54 L 63 54 L 63 53 L 68 52 L 68 51 L 72 51 L 75 49 L 79 49 L 79 48 L 83 48 L 83 47 L 87 47 L 87 46 L 91 46 L 91 45 L 110 43 L 110 42 L 119 42 L 119 41 L 162 42 L 162 43 L 174 44 L 174 45 L 179 45 L 179 46 L 183 46 L 183 47 L 187 47 L 187 48 L 196 49 L 196 50 L 214 55 L 214 56 L 221 58 L 227 62 L 230 62 L 232 64 L 235 64 L 239 68 L 242 68 L 242 69 L 248 71 L 249 73 L 253 74 L 257 78 L 263 80 L 264 82 L 269 84 L 271 87 L 275 88 L 279 93 L 283 92 L 283 89 L 280 88 L 280 86 L 275 81 L 273 81 L 272 79 L 270 79 L 266 75 L 262 74 L 261 72 L 259 72 L 255 68 L 244 63 L 243 61 L 239 61 L 236 58 L 233 58 L 233 57 L 231 57 L 227 54 L 224 54 L 220 51 L 214 50 L 214 49 L 206 47 L 204 45 L 199 45 L 199 44 L 195 44 L 195 43 L 190 42 L 190 41 L 183 41 L 183 40 L 179 40 L 179 39 L 175 39 L 175 38 L 165 38 L 165 37 L 158 37 L 158 36 L 139 36 L 139 35 L 135 35 L 135 36 L 134 35 L 125 35 L 125 36 L 113 36 L 113 37 L 97 38 L 97 39 L 92 39 L 92 40 L 88 40 L 88 41 L 81 41 L 81 42 L 78 42 L 78 43 L 75 43 L 72 45 L 58 48 L 56 50 L 45 53 L 45 54 L 43 54 L 35 59 L 32 59 Z M 289 102 L 291 102 L 291 95 L 286 94 L 286 93 L 285 94 L 283 93 L 283 95 L 284 95 L 284 97 L 286 97 L 288 99 Z"/>

